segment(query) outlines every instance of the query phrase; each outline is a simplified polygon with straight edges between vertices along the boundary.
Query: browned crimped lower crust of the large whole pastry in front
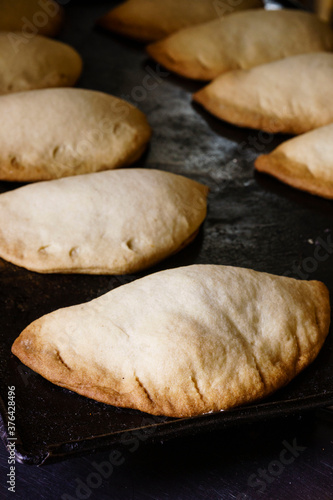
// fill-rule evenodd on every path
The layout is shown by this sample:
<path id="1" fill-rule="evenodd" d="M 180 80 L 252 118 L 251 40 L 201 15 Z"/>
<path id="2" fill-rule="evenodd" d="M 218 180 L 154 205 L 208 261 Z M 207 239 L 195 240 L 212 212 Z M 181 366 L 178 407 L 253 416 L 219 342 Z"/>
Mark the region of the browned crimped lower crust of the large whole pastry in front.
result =
<path id="1" fill-rule="evenodd" d="M 223 388 L 223 407 L 212 408 L 205 403 L 204 398 L 200 398 L 199 401 L 194 400 L 181 390 L 179 391 L 177 407 L 174 407 L 167 398 L 161 399 L 158 394 L 148 394 L 137 377 L 134 378 L 136 383 L 129 387 L 128 392 L 117 391 L 119 388 L 117 380 L 111 381 L 110 385 L 113 388 L 105 387 L 101 376 L 91 377 L 86 368 L 73 370 L 65 364 L 56 349 L 52 351 L 50 346 L 43 346 L 38 338 L 39 331 L 43 326 L 43 318 L 33 322 L 21 333 L 12 346 L 12 352 L 24 364 L 52 383 L 106 404 L 139 409 L 153 415 L 178 418 L 219 411 L 253 402 L 272 394 L 290 382 L 317 357 L 329 332 L 330 300 L 328 289 L 323 283 L 312 281 L 311 286 L 315 289 L 314 296 L 316 296 L 318 304 L 315 312 L 318 341 L 300 355 L 295 366 L 287 367 L 287 369 L 282 365 L 277 367 L 272 373 L 269 383 L 262 380 L 262 384 L 253 387 L 248 393 L 235 394 L 230 391 L 230 388 Z"/>

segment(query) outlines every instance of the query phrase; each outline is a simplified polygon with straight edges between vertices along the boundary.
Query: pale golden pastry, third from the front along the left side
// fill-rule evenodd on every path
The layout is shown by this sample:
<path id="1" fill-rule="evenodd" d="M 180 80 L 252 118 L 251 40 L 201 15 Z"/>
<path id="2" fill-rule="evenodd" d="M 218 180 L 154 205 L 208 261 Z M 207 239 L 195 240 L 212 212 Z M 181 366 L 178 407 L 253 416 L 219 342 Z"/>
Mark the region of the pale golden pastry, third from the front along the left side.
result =
<path id="1" fill-rule="evenodd" d="M 31 182 L 130 165 L 151 128 L 141 111 L 102 92 L 57 88 L 0 98 L 0 179 Z"/>

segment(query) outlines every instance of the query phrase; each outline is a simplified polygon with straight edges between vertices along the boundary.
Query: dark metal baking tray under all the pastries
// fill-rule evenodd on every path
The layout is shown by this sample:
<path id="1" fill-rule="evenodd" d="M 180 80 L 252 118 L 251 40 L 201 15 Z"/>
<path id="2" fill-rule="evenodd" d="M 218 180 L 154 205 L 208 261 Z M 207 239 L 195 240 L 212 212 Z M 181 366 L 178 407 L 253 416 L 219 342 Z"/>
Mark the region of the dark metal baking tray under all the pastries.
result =
<path id="1" fill-rule="evenodd" d="M 12 342 L 34 319 L 160 269 L 193 263 L 242 266 L 318 279 L 333 293 L 332 202 L 254 173 L 255 157 L 286 137 L 233 127 L 193 105 L 191 92 L 202 83 L 166 74 L 147 58 L 142 45 L 94 28 L 95 19 L 111 5 L 72 1 L 66 6 L 61 39 L 83 56 L 79 86 L 124 97 L 144 111 L 154 135 L 138 165 L 184 174 L 207 184 L 209 212 L 189 247 L 135 276 L 39 275 L 0 260 L 1 434 L 8 443 L 7 387 L 14 385 L 16 456 L 27 464 L 108 447 L 133 436 L 161 439 L 234 428 L 259 418 L 333 404 L 332 332 L 316 361 L 270 398 L 218 414 L 178 420 L 84 398 L 52 385 L 11 355 Z M 15 187 L 0 183 L 0 192 Z M 315 251 L 319 246 L 320 260 Z"/>

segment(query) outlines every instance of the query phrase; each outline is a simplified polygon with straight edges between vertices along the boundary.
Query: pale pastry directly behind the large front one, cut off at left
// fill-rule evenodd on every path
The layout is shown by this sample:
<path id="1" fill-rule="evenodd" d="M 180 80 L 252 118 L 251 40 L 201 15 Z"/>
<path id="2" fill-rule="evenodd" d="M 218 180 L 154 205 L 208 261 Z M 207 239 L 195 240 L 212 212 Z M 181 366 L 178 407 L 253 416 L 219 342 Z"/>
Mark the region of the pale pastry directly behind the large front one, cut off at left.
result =
<path id="1" fill-rule="evenodd" d="M 140 271 L 195 238 L 207 192 L 149 169 L 30 184 L 0 195 L 0 257 L 40 273 Z"/>

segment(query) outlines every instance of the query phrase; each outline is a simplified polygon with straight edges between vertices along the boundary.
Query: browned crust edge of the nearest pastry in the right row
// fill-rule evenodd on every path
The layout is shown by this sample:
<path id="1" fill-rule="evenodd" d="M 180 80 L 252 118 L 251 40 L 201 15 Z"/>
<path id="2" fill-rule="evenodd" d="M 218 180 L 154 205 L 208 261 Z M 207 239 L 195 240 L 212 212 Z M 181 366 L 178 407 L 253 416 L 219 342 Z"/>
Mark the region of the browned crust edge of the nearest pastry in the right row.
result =
<path id="1" fill-rule="evenodd" d="M 259 156 L 255 163 L 258 172 L 270 174 L 290 186 L 311 194 L 333 199 L 333 183 L 314 177 L 311 172 L 296 161 L 290 160 L 282 152 Z M 302 172 L 300 176 L 298 173 Z"/>

